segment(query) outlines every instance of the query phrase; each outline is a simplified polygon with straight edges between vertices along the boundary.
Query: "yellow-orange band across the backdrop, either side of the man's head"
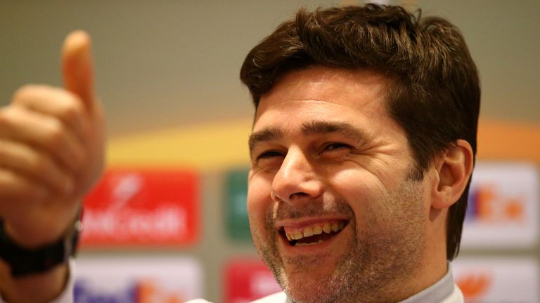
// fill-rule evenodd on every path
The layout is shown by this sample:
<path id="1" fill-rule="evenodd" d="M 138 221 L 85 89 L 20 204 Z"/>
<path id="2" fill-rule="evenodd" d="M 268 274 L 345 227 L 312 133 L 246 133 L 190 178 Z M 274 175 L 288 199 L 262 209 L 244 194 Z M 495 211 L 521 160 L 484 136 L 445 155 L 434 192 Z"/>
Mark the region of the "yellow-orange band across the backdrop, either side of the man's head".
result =
<path id="1" fill-rule="evenodd" d="M 219 121 L 182 128 L 113 137 L 108 163 L 113 166 L 184 166 L 221 170 L 248 166 L 251 119 Z M 479 160 L 540 163 L 540 125 L 480 121 Z"/>

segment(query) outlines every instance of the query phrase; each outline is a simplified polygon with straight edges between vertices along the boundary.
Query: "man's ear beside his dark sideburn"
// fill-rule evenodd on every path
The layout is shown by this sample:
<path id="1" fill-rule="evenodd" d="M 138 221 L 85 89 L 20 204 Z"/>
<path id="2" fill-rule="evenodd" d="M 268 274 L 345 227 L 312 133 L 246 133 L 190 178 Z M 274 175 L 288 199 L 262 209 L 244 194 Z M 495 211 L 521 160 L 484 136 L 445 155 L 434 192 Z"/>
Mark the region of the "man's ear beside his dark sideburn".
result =
<path id="1" fill-rule="evenodd" d="M 458 140 L 444 150 L 434 166 L 438 178 L 432 188 L 432 207 L 449 208 L 463 194 L 473 172 L 473 148 L 469 142 Z"/>

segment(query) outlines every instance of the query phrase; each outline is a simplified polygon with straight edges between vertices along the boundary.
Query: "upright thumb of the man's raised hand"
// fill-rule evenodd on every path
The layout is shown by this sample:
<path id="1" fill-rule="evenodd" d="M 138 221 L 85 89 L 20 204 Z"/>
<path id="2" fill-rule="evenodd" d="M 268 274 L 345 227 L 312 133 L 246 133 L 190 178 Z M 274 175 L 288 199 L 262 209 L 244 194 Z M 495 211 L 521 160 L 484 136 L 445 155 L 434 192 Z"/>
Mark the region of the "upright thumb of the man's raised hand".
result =
<path id="1" fill-rule="evenodd" d="M 94 104 L 94 64 L 91 57 L 91 39 L 84 31 L 68 34 L 62 48 L 64 87 L 79 96 L 86 108 Z"/>

